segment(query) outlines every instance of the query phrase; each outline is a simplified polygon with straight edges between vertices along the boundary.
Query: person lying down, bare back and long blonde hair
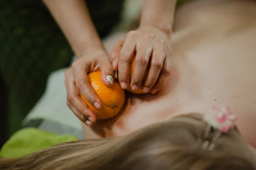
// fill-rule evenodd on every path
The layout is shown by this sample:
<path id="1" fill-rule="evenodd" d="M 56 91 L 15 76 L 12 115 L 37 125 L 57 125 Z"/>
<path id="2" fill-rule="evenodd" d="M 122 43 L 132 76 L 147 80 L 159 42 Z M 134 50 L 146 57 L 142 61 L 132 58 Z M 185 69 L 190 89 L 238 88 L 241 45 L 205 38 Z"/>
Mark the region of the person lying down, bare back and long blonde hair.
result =
<path id="1" fill-rule="evenodd" d="M 161 91 L 131 96 L 114 119 L 83 124 L 86 140 L 1 159 L 0 169 L 255 170 L 248 145 L 256 148 L 255 16 L 254 0 L 184 4 L 172 35 L 172 74 Z M 232 108 L 235 127 L 220 133 L 218 124 L 202 121 L 213 103 Z"/>

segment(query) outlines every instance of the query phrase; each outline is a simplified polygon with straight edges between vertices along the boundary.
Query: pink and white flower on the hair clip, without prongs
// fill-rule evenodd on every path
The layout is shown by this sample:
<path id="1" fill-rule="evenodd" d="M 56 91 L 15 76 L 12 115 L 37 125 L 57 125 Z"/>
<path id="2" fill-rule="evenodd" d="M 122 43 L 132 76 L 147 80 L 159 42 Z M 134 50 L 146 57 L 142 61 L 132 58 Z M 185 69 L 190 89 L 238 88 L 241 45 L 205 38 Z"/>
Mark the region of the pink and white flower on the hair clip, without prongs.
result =
<path id="1" fill-rule="evenodd" d="M 230 108 L 223 106 L 209 108 L 203 117 L 204 122 L 221 133 L 227 133 L 233 129 L 236 120 L 237 116 L 230 111 Z"/>

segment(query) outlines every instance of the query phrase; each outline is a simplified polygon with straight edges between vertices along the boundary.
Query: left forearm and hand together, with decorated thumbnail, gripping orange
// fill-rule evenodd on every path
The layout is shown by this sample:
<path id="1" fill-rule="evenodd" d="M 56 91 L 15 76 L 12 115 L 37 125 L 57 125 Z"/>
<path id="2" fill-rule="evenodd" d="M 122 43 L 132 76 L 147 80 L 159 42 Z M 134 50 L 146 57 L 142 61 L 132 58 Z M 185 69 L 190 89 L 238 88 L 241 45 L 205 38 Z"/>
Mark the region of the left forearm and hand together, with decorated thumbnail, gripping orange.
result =
<path id="1" fill-rule="evenodd" d="M 96 115 L 80 97 L 81 94 L 96 108 L 101 102 L 90 86 L 88 72 L 100 70 L 102 82 L 111 86 L 106 78 L 114 76 L 111 61 L 105 51 L 84 0 L 43 0 L 66 36 L 77 60 L 65 72 L 67 105 L 82 122 L 95 122 Z"/>

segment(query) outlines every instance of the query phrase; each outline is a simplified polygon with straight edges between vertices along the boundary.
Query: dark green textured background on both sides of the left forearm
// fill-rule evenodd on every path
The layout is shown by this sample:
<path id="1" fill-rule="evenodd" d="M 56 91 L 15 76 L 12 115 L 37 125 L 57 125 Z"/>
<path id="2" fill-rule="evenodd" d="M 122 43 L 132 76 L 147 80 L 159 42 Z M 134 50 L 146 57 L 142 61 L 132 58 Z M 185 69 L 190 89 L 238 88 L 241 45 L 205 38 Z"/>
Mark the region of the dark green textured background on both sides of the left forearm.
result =
<path id="1" fill-rule="evenodd" d="M 100 37 L 118 23 L 122 4 L 87 1 Z M 49 74 L 70 65 L 73 51 L 41 0 L 1 0 L 0 6 L 0 74 L 8 88 L 10 136 L 44 93 Z"/>

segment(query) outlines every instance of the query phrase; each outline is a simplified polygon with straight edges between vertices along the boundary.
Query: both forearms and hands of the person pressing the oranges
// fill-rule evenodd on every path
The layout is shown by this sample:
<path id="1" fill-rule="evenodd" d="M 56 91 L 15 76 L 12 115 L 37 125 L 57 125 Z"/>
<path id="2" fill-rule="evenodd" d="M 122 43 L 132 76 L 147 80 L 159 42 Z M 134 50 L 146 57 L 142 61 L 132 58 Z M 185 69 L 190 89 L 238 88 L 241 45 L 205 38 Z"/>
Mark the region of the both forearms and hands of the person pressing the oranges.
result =
<path id="1" fill-rule="evenodd" d="M 109 56 L 83 0 L 43 0 L 78 58 L 65 72 L 65 86 L 67 105 L 82 122 L 92 126 L 96 115 L 81 99 L 80 92 L 94 107 L 100 109 L 102 105 L 89 84 L 89 72 L 101 71 L 102 82 L 109 87 L 107 76 L 114 77 L 116 70 L 123 89 L 130 85 L 133 90 L 142 87 L 145 93 L 154 94 L 163 87 L 171 74 L 170 37 L 176 1 L 144 0 L 139 28 L 117 41 Z M 136 64 L 130 79 L 135 53 Z"/>

